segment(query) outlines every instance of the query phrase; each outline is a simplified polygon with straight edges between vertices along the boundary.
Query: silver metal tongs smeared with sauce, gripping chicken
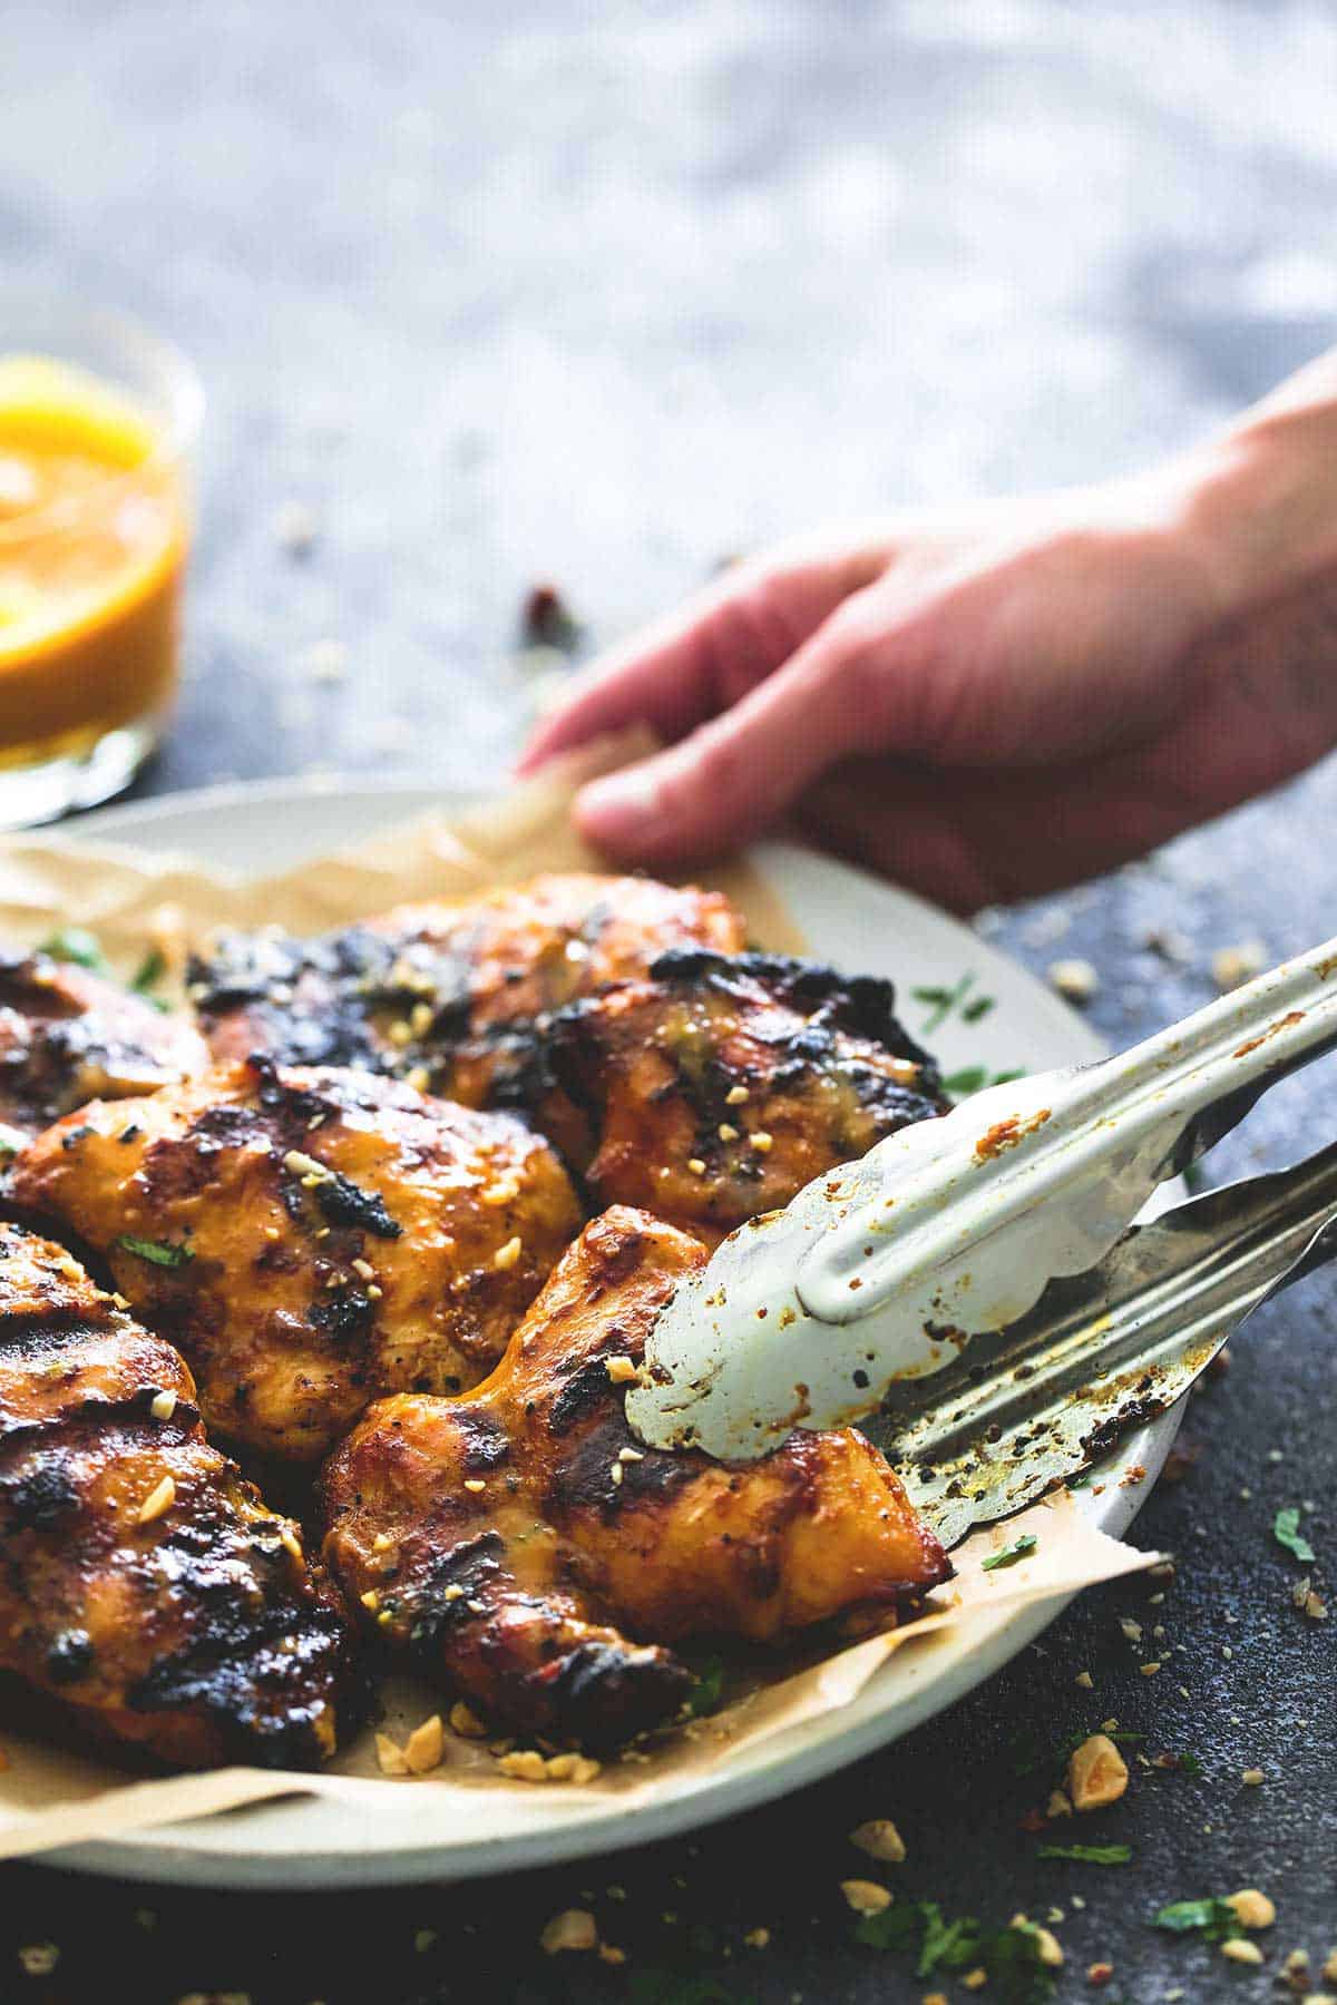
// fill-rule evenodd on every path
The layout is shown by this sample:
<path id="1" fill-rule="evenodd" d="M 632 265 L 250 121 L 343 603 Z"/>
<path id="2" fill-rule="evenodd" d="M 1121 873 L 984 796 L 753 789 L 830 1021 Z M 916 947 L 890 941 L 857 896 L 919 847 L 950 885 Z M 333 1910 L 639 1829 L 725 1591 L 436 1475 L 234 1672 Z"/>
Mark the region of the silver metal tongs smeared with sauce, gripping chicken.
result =
<path id="1" fill-rule="evenodd" d="M 948 1542 L 1018 1510 L 1337 1253 L 1337 1145 L 1133 1223 L 1333 1045 L 1337 940 L 1123 1057 L 902 1129 L 678 1289 L 627 1395 L 633 1430 L 734 1460 L 860 1420 Z"/>

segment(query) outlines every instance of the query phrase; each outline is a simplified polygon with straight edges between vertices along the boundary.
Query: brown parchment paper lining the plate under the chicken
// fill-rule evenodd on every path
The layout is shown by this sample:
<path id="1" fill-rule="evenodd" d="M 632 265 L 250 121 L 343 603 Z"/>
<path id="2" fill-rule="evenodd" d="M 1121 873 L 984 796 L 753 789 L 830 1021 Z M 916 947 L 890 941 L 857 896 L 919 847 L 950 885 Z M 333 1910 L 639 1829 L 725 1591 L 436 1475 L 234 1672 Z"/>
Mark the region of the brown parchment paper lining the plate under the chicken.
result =
<path id="1" fill-rule="evenodd" d="M 467 898 L 537 870 L 599 868 L 599 858 L 571 828 L 571 794 L 593 772 L 609 770 L 639 750 L 643 742 L 637 738 L 603 744 L 465 816 L 427 816 L 271 878 L 241 880 L 202 870 L 188 858 L 156 858 L 68 836 L 14 838 L 0 842 L 0 932 L 36 942 L 58 926 L 88 926 L 120 972 L 138 966 L 144 950 L 156 944 L 178 974 L 188 942 L 216 924 L 313 932 L 405 900 Z M 702 872 L 700 880 L 738 902 L 762 946 L 802 950 L 780 896 L 746 860 Z M 1036 1534 L 1034 1552 L 1014 1566 L 988 1572 L 980 1566 L 1024 1530 Z M 902 1670 L 916 1682 L 938 1676 L 948 1662 L 960 1660 L 976 1634 L 982 1644 L 1000 1616 L 1117 1580 L 1157 1558 L 1106 1538 L 1068 1498 L 1036 1504 L 1006 1528 L 978 1532 L 960 1546 L 954 1554 L 956 1580 L 930 1596 L 918 1620 L 838 1648 L 802 1670 L 778 1670 L 760 1682 L 754 1678 L 744 1696 L 712 1718 L 605 1764 L 593 1782 L 579 1786 L 581 1809 L 593 1811 L 603 1796 L 617 1798 L 621 1809 L 676 1794 L 746 1748 L 838 1712 L 874 1676 L 894 1680 Z M 888 1688 L 888 1700 L 892 1696 Z M 437 1710 L 445 1712 L 441 1694 L 395 1680 L 381 1694 L 375 1724 L 403 1742 Z M 106 1841 L 277 1796 L 345 1796 L 349 1790 L 367 1794 L 373 1804 L 383 1796 L 391 1815 L 389 1790 L 455 1790 L 461 1796 L 461 1829 L 467 1829 L 477 1790 L 541 1788 L 547 1809 L 555 1790 L 573 1786 L 515 1782 L 499 1774 L 483 1742 L 455 1734 L 447 1734 L 445 1758 L 431 1774 L 385 1778 L 371 1728 L 319 1776 L 227 1768 L 198 1776 L 130 1778 L 114 1760 L 6 1730 L 2 1720 L 0 1760 L 0 1859 Z"/>

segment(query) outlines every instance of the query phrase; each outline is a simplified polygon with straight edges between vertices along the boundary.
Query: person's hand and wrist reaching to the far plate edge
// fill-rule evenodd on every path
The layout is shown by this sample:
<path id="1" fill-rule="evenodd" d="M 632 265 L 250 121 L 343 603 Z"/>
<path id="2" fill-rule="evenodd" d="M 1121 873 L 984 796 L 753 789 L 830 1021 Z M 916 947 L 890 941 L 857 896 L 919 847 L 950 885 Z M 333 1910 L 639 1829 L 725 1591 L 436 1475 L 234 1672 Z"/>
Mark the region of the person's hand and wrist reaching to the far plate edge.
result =
<path id="1" fill-rule="evenodd" d="M 645 722 L 667 750 L 575 808 L 617 858 L 788 816 L 956 910 L 1139 856 L 1337 742 L 1333 421 L 1267 411 L 1139 481 L 740 563 L 579 678 L 521 770 Z"/>

